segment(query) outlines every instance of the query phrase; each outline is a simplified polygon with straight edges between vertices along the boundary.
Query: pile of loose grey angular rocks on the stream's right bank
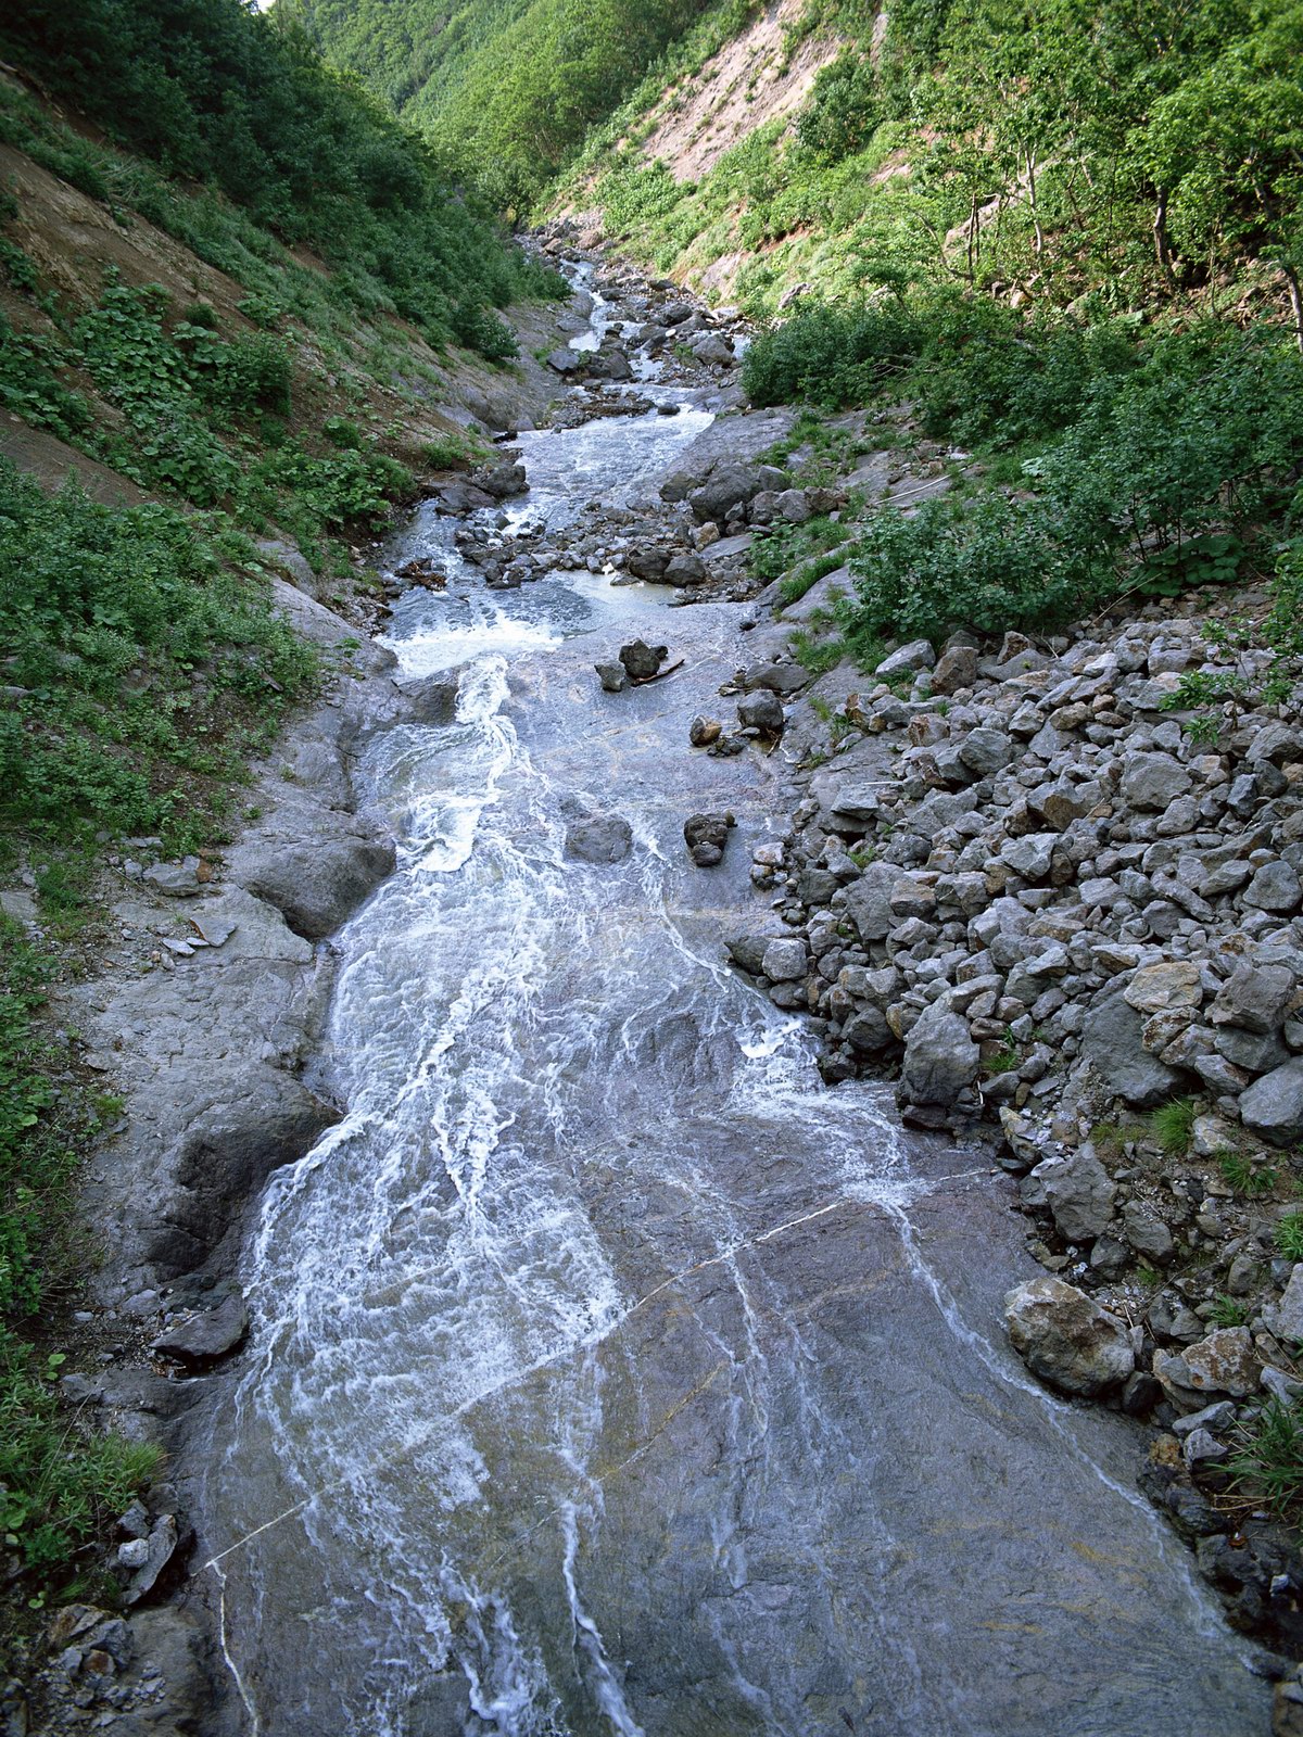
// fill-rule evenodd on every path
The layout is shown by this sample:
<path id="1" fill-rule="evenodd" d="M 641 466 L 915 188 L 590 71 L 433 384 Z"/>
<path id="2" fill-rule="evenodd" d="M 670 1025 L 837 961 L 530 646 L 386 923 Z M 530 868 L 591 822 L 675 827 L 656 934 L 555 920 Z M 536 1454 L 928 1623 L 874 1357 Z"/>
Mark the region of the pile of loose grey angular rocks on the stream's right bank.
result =
<path id="1" fill-rule="evenodd" d="M 1011 1292 L 1013 1343 L 1164 1431 L 1152 1494 L 1296 1645 L 1303 1563 L 1216 1501 L 1303 1395 L 1303 733 L 1298 695 L 1195 721 L 1181 677 L 1218 667 L 1190 604 L 834 670 L 752 870 L 787 935 L 730 952 L 815 1018 L 829 1080 L 890 1068 L 905 1120 L 999 1124 L 1053 1275 Z"/>

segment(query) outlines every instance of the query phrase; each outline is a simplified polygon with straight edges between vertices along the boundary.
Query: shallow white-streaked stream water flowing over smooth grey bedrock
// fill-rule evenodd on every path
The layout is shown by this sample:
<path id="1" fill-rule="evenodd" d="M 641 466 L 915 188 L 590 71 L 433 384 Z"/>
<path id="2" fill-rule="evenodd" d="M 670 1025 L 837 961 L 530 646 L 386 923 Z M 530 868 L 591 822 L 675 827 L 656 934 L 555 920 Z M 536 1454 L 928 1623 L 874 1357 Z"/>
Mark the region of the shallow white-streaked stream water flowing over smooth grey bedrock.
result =
<path id="1" fill-rule="evenodd" d="M 679 394 L 681 398 L 685 394 Z M 516 523 L 634 500 L 709 420 L 521 441 Z M 400 868 L 339 936 L 347 1106 L 273 1181 L 203 1503 L 261 1737 L 1230 1737 L 1265 1690 L 1133 1494 L 1138 1438 L 1030 1383 L 975 1152 L 827 1089 L 721 964 L 778 769 L 686 723 L 742 611 L 493 594 L 420 514 L 405 669 L 455 721 L 363 768 Z M 685 669 L 605 695 L 631 632 Z M 714 698 L 714 709 L 724 702 Z M 617 808 L 613 867 L 566 818 Z M 718 870 L 681 825 L 731 808 Z"/>

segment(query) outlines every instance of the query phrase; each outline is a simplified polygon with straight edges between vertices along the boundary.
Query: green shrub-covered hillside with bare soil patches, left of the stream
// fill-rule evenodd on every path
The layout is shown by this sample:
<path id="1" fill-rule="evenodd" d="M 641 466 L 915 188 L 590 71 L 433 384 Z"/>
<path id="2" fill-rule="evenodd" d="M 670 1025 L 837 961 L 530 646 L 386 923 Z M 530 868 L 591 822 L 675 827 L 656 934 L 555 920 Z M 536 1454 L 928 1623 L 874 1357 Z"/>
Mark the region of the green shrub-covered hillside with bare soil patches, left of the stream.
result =
<path id="1" fill-rule="evenodd" d="M 158 1459 L 69 1426 L 36 1337 L 85 1273 L 75 1178 L 120 1112 L 45 992 L 106 945 L 104 855 L 219 849 L 250 756 L 320 691 L 332 655 L 274 570 L 365 594 L 351 545 L 467 453 L 452 370 L 509 380 L 499 309 L 561 281 L 238 0 L 16 0 L 0 61 L 7 1641 L 28 1600 L 87 1591 Z"/>

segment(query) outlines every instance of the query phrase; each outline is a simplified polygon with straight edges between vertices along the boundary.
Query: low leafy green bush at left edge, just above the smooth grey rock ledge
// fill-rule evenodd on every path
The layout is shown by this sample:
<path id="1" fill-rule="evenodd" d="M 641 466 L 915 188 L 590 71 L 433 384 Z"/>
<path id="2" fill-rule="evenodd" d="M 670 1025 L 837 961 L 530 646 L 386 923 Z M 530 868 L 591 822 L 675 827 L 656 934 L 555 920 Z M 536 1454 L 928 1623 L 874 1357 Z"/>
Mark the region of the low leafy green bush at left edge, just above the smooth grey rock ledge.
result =
<path id="1" fill-rule="evenodd" d="M 356 455 L 349 455 L 356 457 Z M 163 505 L 47 499 L 0 460 L 0 827 L 75 841 L 212 829 L 241 754 L 316 679 L 252 549 Z"/>

